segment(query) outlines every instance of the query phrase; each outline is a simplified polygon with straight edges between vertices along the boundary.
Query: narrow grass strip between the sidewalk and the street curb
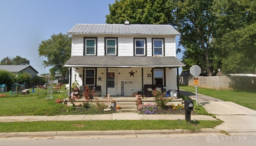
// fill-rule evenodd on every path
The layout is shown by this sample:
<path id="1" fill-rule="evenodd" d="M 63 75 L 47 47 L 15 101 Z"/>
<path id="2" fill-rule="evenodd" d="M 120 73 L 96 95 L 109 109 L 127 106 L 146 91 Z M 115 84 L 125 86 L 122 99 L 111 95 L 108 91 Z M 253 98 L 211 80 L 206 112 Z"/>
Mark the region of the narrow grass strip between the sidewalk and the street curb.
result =
<path id="1" fill-rule="evenodd" d="M 162 130 L 186 129 L 199 132 L 213 128 L 223 121 L 197 120 L 93 120 L 93 121 L 38 121 L 0 122 L 0 132 L 91 131 L 91 130 Z"/>

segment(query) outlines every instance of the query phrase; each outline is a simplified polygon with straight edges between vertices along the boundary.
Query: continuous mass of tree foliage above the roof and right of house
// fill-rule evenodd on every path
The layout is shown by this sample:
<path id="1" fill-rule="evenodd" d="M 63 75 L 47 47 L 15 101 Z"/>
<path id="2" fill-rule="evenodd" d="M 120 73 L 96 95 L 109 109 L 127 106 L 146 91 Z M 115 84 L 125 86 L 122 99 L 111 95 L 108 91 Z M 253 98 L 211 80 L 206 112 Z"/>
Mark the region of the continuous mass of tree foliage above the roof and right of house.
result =
<path id="1" fill-rule="evenodd" d="M 171 24 L 181 33 L 183 70 L 197 64 L 207 76 L 219 68 L 249 73 L 255 72 L 255 7 L 254 0 L 116 0 L 106 23 Z"/>

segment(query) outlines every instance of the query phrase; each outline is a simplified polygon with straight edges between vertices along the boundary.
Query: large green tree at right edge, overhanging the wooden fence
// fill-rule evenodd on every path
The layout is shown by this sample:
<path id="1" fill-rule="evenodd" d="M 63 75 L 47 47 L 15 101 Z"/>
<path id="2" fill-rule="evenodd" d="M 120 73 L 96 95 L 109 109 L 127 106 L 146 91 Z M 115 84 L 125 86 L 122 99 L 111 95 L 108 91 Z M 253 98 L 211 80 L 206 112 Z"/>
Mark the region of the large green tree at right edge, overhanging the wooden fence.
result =
<path id="1" fill-rule="evenodd" d="M 215 1 L 217 16 L 214 46 L 222 58 L 225 74 L 255 74 L 256 2 L 253 0 Z"/>

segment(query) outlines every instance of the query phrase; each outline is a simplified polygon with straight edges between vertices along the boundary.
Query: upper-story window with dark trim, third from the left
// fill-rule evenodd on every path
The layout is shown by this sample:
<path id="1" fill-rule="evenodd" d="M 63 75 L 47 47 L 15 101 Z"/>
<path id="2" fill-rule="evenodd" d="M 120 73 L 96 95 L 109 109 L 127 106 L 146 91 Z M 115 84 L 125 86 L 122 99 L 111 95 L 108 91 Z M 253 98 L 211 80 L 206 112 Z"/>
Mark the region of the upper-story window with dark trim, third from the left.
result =
<path id="1" fill-rule="evenodd" d="M 134 56 L 146 56 L 147 38 L 133 38 Z"/>

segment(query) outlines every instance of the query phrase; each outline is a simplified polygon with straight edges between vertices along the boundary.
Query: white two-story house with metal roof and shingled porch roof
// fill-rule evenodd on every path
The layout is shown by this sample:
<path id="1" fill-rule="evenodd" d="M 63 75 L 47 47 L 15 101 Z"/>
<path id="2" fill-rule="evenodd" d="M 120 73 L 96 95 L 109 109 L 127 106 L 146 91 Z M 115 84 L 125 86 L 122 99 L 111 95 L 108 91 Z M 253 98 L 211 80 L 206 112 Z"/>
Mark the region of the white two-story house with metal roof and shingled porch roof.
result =
<path id="1" fill-rule="evenodd" d="M 128 21 L 125 22 L 126 24 Z M 133 96 L 145 84 L 177 89 L 176 35 L 171 25 L 76 24 L 72 35 L 69 86 L 101 86 L 102 94 Z"/>

